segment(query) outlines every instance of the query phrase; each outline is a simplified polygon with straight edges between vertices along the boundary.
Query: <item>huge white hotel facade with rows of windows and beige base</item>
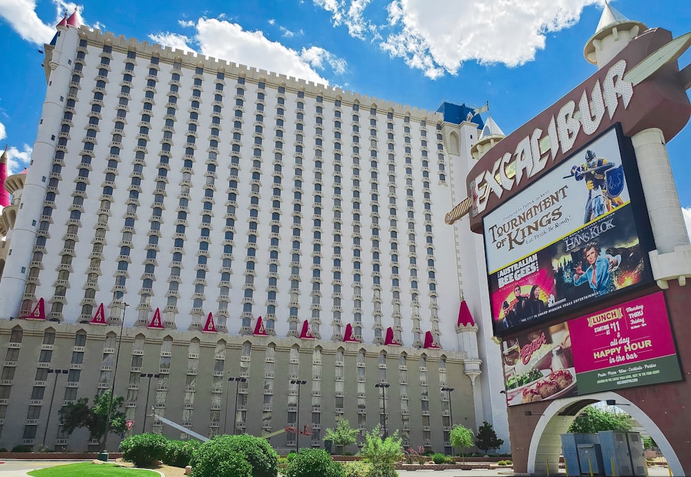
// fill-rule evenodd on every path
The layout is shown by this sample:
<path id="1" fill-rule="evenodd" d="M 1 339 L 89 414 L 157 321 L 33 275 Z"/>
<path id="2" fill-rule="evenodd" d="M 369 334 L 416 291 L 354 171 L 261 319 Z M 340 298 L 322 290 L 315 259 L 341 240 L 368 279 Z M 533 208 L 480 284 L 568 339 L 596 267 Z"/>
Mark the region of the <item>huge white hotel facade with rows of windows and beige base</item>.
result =
<path id="1" fill-rule="evenodd" d="M 203 435 L 308 425 L 302 447 L 344 418 L 446 453 L 452 418 L 507 439 L 482 243 L 444 225 L 482 122 L 75 22 L 45 66 L 3 221 L 0 447 L 86 447 L 55 411 L 113 379 L 135 431 L 176 438 L 146 409 Z"/>

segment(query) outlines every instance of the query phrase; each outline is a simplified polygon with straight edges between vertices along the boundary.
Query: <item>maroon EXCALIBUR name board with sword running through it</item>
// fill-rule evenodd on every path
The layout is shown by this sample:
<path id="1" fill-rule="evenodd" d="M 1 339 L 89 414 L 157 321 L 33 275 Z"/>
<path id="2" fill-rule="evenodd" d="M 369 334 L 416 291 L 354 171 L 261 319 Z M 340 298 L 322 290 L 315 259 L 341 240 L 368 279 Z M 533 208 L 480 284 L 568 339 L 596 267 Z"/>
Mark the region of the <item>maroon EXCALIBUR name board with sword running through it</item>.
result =
<path id="1" fill-rule="evenodd" d="M 691 32 L 672 39 L 670 32 L 657 28 L 636 37 L 612 64 L 486 153 L 468 174 L 468 198 L 447 214 L 446 223 L 471 209 L 471 228 L 480 232 L 482 214 L 507 193 L 515 194 L 517 185 L 522 189 L 615 122 L 622 123 L 627 136 L 665 124 L 665 138 L 672 138 L 688 120 L 688 114 L 670 112 L 679 109 L 683 90 L 691 87 L 690 66 L 676 68 L 676 59 L 689 46 Z M 679 91 L 671 91 L 670 82 Z"/>

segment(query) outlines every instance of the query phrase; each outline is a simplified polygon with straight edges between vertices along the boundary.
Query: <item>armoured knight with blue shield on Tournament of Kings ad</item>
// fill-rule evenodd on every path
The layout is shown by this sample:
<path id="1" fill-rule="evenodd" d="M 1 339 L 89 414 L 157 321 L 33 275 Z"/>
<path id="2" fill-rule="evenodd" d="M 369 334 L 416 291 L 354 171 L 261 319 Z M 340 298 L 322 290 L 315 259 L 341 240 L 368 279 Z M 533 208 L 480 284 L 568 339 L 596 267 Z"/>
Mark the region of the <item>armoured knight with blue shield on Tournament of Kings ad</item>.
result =
<path id="1" fill-rule="evenodd" d="M 572 167 L 571 176 L 565 178 L 569 177 L 585 180 L 588 189 L 583 223 L 589 223 L 623 204 L 619 197 L 624 189 L 623 169 L 605 158 L 598 158 L 590 149 L 585 152 L 585 162 Z"/>

